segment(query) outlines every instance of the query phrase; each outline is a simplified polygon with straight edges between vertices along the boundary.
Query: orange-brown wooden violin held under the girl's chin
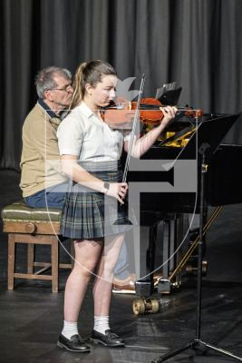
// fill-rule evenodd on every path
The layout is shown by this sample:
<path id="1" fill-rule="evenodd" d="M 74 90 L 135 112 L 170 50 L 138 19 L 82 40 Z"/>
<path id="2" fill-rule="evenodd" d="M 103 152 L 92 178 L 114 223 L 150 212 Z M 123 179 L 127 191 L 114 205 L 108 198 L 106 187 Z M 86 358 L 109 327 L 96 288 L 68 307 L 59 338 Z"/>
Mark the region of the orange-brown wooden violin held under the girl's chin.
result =
<path id="1" fill-rule="evenodd" d="M 102 120 L 111 125 L 124 125 L 132 121 L 136 110 L 137 102 L 129 102 L 122 97 L 118 97 L 114 104 L 104 109 Z M 188 107 L 179 107 L 178 111 L 183 112 L 186 116 L 194 117 L 200 117 L 203 114 L 202 110 L 193 110 Z M 140 121 L 150 125 L 160 124 L 164 117 L 162 104 L 156 98 L 142 98 L 139 113 Z"/>

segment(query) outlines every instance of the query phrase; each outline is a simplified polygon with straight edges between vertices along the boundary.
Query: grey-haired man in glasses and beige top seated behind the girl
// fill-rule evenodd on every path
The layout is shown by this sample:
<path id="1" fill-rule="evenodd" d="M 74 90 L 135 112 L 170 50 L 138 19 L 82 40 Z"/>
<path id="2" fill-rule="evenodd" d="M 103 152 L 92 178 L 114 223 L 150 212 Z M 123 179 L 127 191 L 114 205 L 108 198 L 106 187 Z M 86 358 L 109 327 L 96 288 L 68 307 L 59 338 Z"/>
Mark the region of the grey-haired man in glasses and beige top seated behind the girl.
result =
<path id="1" fill-rule="evenodd" d="M 62 208 L 68 182 L 60 164 L 56 131 L 73 98 L 72 74 L 64 68 L 47 67 L 36 75 L 35 86 L 39 99 L 23 125 L 20 187 L 30 207 Z M 116 280 L 116 290 L 122 292 L 122 280 L 124 285 L 131 280 L 125 243 L 115 271 L 122 272 L 121 280 Z"/>

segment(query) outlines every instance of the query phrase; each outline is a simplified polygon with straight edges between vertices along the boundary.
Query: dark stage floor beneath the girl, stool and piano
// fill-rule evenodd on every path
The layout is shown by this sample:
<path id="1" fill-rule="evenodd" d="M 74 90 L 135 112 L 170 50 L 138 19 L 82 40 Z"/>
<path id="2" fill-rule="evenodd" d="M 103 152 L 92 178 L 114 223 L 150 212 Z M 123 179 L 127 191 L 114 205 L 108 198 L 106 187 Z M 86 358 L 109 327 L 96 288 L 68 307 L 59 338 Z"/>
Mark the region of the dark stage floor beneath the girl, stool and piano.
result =
<path id="1" fill-rule="evenodd" d="M 21 197 L 18 183 L 17 172 L 0 171 L 1 209 Z M 224 207 L 207 235 L 208 275 L 203 279 L 201 315 L 202 340 L 239 357 L 242 357 L 241 236 L 242 204 Z M 180 289 L 159 296 L 161 304 L 157 314 L 135 316 L 133 295 L 113 295 L 111 327 L 124 338 L 126 348 L 92 345 L 89 354 L 56 348 L 63 327 L 63 290 L 68 270 L 61 271 L 59 293 L 51 292 L 50 282 L 37 280 L 18 280 L 15 289 L 8 291 L 7 236 L 2 232 L 2 224 L 0 237 L 1 363 L 151 362 L 195 338 L 196 278 L 183 277 Z M 24 262 L 23 257 L 17 263 L 22 266 Z M 90 284 L 79 319 L 80 333 L 84 337 L 92 330 L 92 311 Z M 168 361 L 218 363 L 236 360 L 210 349 L 189 349 Z"/>

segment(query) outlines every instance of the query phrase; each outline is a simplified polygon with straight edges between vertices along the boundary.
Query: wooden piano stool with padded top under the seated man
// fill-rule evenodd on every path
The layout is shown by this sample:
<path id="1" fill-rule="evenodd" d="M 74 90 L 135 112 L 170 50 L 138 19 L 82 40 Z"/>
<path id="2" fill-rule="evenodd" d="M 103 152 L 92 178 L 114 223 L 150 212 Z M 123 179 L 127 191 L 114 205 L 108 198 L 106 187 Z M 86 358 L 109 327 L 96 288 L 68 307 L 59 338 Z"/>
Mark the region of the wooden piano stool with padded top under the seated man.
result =
<path id="1" fill-rule="evenodd" d="M 59 268 L 72 269 L 73 263 L 59 263 L 59 229 L 62 211 L 56 208 L 31 208 L 24 201 L 17 201 L 2 210 L 4 231 L 8 233 L 7 289 L 15 288 L 15 278 L 52 280 L 53 292 L 58 292 Z M 15 272 L 15 245 L 26 243 L 27 273 Z M 51 263 L 34 261 L 34 246 L 51 245 Z M 73 256 L 73 243 L 71 245 Z M 72 259 L 73 262 L 73 259 Z M 34 267 L 43 269 L 35 271 Z M 51 269 L 51 275 L 43 272 Z"/>

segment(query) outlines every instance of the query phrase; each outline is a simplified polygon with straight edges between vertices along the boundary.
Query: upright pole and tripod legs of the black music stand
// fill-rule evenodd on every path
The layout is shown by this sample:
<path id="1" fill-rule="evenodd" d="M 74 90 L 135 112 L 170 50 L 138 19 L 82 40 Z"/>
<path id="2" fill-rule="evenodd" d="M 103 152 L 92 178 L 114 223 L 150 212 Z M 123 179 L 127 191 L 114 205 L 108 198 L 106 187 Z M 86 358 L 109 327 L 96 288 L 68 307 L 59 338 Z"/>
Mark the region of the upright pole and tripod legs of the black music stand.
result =
<path id="1" fill-rule="evenodd" d="M 181 348 L 173 350 L 170 353 L 167 353 L 159 358 L 152 360 L 151 363 L 160 363 L 165 360 L 177 356 L 179 353 L 188 350 L 189 348 L 196 349 L 200 347 L 206 347 L 212 350 L 217 351 L 220 354 L 223 354 L 230 358 L 235 358 L 242 362 L 242 358 L 237 357 L 236 355 L 224 350 L 222 348 L 218 348 L 212 346 L 200 339 L 200 331 L 201 331 L 201 285 L 202 285 L 202 247 L 203 247 L 203 211 L 204 211 L 204 177 L 208 169 L 208 165 L 206 164 L 206 150 L 209 148 L 208 143 L 202 143 L 199 147 L 198 152 L 202 155 L 201 162 L 201 170 L 200 170 L 200 216 L 199 216 L 199 241 L 198 241 L 198 277 L 197 277 L 197 320 L 196 320 L 196 336 L 190 343 L 184 345 Z"/>

